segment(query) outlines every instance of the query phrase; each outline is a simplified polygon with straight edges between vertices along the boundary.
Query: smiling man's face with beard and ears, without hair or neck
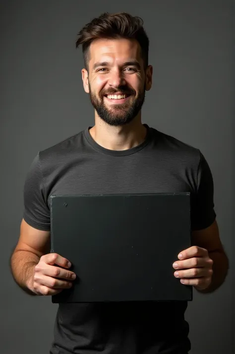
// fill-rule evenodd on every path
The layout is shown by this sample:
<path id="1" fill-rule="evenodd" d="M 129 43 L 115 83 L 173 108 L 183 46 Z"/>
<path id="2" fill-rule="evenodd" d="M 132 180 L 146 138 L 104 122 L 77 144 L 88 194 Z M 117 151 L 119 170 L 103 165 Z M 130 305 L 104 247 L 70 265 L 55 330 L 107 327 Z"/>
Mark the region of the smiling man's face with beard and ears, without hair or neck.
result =
<path id="1" fill-rule="evenodd" d="M 84 89 L 89 92 L 93 107 L 101 119 L 113 126 L 127 124 L 137 116 L 145 90 L 150 88 L 146 88 L 147 76 L 138 42 L 128 39 L 92 42 L 89 75 L 82 70 Z"/>

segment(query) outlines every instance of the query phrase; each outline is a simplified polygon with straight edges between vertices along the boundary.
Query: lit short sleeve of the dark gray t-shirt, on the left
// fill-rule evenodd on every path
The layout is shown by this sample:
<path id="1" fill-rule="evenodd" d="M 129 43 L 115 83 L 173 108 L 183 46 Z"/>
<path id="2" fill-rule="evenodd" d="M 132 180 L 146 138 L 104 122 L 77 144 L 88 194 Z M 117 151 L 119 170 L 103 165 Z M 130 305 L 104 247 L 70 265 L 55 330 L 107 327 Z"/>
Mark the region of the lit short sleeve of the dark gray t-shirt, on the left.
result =
<path id="1" fill-rule="evenodd" d="M 50 231 L 50 209 L 40 167 L 40 153 L 34 158 L 26 175 L 23 191 L 23 219 L 35 229 Z"/>

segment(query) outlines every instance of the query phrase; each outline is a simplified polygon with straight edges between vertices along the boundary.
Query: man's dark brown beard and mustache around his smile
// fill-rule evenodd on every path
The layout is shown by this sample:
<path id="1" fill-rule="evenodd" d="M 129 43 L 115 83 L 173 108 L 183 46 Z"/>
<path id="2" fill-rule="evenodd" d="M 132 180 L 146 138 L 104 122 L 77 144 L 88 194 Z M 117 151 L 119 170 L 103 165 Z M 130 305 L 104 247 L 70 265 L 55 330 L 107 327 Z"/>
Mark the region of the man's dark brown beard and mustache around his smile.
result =
<path id="1" fill-rule="evenodd" d="M 129 89 L 127 86 L 120 86 L 116 92 L 122 92 L 123 94 L 129 93 L 132 96 L 135 95 L 135 91 Z M 113 126 L 120 126 L 130 123 L 139 113 L 141 107 L 143 106 L 145 100 L 145 85 L 143 90 L 138 91 L 138 96 L 132 103 L 128 102 L 124 104 L 112 104 L 109 107 L 104 103 L 104 95 L 115 94 L 114 90 L 109 90 L 106 92 L 100 92 L 99 99 L 91 91 L 89 83 L 89 96 L 92 106 L 95 108 L 98 116 L 103 119 L 107 124 Z"/>

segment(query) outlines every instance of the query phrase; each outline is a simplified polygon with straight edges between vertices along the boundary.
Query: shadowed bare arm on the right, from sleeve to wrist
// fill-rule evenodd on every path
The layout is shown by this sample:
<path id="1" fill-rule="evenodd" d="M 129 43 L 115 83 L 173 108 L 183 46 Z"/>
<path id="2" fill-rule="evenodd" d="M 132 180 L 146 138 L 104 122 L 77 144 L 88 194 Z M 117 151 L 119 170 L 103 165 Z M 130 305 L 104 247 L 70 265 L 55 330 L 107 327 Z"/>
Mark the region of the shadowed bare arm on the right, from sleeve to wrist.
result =
<path id="1" fill-rule="evenodd" d="M 213 274 L 210 286 L 200 293 L 212 293 L 225 281 L 229 269 L 229 259 L 219 236 L 217 221 L 206 229 L 192 231 L 192 245 L 207 249 L 209 257 L 213 260 Z"/>

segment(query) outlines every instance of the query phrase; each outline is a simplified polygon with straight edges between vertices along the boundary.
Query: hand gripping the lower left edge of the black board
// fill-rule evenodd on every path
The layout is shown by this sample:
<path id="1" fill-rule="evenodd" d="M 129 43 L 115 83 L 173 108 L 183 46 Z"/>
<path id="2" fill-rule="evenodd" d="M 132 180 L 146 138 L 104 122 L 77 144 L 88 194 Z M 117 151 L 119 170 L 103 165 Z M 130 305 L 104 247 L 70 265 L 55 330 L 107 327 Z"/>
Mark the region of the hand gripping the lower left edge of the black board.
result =
<path id="1" fill-rule="evenodd" d="M 54 264 L 67 269 L 59 268 Z M 68 270 L 70 267 L 70 262 L 58 253 L 45 254 L 34 267 L 28 288 L 36 295 L 59 294 L 63 289 L 71 288 L 72 281 L 76 278 L 75 273 Z"/>

